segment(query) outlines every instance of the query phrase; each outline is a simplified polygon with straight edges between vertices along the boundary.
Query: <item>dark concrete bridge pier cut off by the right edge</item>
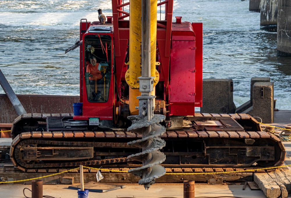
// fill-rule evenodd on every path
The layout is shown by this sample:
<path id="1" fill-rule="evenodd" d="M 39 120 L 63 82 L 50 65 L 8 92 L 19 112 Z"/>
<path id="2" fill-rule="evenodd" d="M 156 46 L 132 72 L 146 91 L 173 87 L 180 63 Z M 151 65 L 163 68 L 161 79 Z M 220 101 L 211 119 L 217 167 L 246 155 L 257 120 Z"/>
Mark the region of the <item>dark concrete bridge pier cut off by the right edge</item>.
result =
<path id="1" fill-rule="evenodd" d="M 277 54 L 291 56 L 291 1 L 278 0 Z"/>

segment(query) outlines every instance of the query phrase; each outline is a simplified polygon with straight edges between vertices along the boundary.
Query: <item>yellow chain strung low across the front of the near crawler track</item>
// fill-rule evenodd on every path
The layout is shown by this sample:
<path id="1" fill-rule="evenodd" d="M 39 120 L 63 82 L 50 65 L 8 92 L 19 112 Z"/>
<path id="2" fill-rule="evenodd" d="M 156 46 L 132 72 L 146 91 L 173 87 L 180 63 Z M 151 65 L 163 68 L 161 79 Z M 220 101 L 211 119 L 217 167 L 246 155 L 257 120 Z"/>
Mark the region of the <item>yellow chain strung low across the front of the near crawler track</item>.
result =
<path id="1" fill-rule="evenodd" d="M 250 171 L 256 171 L 256 170 L 267 170 L 267 169 L 275 169 L 275 168 L 282 168 L 282 167 L 287 167 L 287 166 L 291 166 L 290 165 L 283 165 L 283 166 L 275 166 L 275 167 L 268 167 L 268 168 L 258 168 L 258 169 L 251 169 L 251 170 L 237 170 L 237 171 L 226 171 L 226 172 L 177 172 L 177 173 L 165 173 L 165 174 L 180 174 L 180 175 L 185 175 L 185 174 L 224 174 L 224 173 L 234 173 L 234 172 L 250 172 Z M 124 170 L 110 170 L 110 169 L 103 169 L 103 168 L 92 168 L 92 167 L 87 167 L 87 166 L 83 166 L 84 168 L 90 168 L 90 169 L 96 169 L 96 170 L 104 170 L 104 171 L 111 171 L 111 172 L 124 172 L 124 173 L 128 173 L 127 171 Z M 42 176 L 42 177 L 36 177 L 36 178 L 32 178 L 32 179 L 22 179 L 22 180 L 17 180 L 17 181 L 1 181 L 0 183 L 13 183 L 13 182 L 20 182 L 20 181 L 30 181 L 30 180 L 35 180 L 35 179 L 41 179 L 41 178 L 45 178 L 45 177 L 50 177 L 50 176 L 54 176 L 57 174 L 62 174 L 65 172 L 70 172 L 72 170 L 76 170 L 79 169 L 78 168 L 74 168 L 71 170 L 66 170 L 63 172 L 59 172 L 59 173 L 55 173 L 55 174 L 50 174 L 50 175 L 46 175 L 46 176 Z"/>

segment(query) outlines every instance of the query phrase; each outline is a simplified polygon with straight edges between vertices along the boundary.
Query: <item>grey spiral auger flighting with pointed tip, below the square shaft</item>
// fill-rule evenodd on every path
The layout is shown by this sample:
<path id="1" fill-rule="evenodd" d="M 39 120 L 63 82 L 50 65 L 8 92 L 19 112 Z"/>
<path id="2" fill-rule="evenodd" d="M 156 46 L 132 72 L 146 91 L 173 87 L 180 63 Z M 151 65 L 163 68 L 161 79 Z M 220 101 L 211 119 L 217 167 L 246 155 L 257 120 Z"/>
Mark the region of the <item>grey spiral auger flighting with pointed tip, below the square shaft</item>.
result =
<path id="1" fill-rule="evenodd" d="M 159 165 L 165 161 L 166 156 L 159 149 L 166 145 L 166 142 L 159 138 L 164 134 L 165 127 L 158 124 L 164 120 L 163 115 L 154 115 L 151 120 L 147 120 L 138 116 L 129 116 L 132 125 L 128 128 L 131 132 L 141 133 L 142 139 L 129 142 L 128 145 L 134 145 L 142 148 L 142 152 L 128 156 L 128 158 L 142 162 L 142 167 L 128 170 L 135 175 L 142 177 L 139 184 L 148 189 L 150 185 L 155 183 L 155 180 L 162 177 L 166 170 Z"/>

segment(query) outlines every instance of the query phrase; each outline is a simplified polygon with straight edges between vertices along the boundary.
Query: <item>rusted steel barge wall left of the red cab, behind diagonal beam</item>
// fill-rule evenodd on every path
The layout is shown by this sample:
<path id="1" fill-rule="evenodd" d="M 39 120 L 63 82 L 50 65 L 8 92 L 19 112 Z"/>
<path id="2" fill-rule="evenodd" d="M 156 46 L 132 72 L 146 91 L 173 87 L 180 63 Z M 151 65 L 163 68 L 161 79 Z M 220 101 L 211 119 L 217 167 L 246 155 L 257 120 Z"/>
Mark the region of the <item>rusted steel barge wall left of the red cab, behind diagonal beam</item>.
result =
<path id="1" fill-rule="evenodd" d="M 28 113 L 53 114 L 56 112 L 73 112 L 73 102 L 79 96 L 59 95 L 17 95 L 22 106 Z M 0 123 L 13 123 L 17 113 L 6 94 L 0 94 Z"/>

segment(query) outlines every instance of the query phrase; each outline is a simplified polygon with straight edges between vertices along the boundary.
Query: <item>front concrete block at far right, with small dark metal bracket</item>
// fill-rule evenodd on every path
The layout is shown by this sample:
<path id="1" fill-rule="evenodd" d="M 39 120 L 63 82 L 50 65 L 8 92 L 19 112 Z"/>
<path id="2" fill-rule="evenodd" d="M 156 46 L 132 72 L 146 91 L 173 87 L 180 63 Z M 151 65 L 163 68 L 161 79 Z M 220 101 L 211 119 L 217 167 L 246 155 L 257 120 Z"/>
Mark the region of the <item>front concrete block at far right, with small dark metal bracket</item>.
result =
<path id="1" fill-rule="evenodd" d="M 262 118 L 263 123 L 274 120 L 274 82 L 253 84 L 253 106 L 243 113 Z"/>

